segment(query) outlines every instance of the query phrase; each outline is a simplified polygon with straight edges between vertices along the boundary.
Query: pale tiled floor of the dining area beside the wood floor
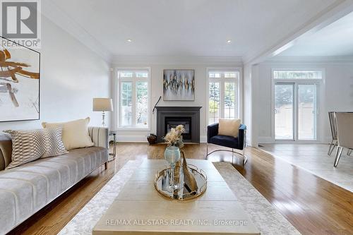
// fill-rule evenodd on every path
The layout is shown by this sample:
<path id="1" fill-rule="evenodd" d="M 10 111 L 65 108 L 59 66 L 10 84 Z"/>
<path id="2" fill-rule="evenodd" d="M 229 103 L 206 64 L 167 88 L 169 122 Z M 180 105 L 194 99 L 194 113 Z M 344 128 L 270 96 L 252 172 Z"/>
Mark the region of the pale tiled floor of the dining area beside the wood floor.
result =
<path id="1" fill-rule="evenodd" d="M 353 154 L 342 152 L 337 167 L 333 167 L 336 148 L 328 156 L 328 145 L 323 144 L 261 144 L 261 150 L 296 167 L 305 169 L 326 181 L 353 192 Z"/>

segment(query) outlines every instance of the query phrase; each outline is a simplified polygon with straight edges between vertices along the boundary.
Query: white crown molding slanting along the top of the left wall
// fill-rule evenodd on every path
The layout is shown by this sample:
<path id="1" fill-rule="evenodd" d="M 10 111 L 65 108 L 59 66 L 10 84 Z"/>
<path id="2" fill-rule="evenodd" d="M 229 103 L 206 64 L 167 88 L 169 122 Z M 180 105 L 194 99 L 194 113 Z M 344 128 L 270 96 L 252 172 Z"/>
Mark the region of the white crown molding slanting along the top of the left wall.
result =
<path id="1" fill-rule="evenodd" d="M 105 48 L 100 42 L 90 35 L 82 26 L 76 23 L 73 18 L 61 10 L 53 0 L 42 1 L 42 16 L 45 16 L 51 20 L 54 24 L 68 32 L 70 35 L 75 37 L 78 41 L 88 47 L 92 52 L 98 54 L 102 59 L 111 62 L 112 54 L 107 48 Z"/>

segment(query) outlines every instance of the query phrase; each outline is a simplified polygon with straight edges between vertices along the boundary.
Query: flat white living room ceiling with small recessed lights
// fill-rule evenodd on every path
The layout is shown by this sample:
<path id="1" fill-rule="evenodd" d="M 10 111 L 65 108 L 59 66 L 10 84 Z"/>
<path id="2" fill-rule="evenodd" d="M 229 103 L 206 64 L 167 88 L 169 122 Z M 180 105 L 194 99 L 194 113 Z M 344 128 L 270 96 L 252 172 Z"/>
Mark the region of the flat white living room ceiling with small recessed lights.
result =
<path id="1" fill-rule="evenodd" d="M 246 56 L 292 35 L 337 0 L 51 2 L 61 27 L 77 24 L 114 56 Z"/>

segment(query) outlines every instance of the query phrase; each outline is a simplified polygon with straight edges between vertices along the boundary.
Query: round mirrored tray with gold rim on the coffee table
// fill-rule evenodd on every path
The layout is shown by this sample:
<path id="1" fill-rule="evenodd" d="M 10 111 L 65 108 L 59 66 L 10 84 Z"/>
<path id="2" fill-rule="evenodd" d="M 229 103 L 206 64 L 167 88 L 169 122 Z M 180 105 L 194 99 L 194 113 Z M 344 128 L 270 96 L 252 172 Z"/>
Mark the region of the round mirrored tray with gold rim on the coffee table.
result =
<path id="1" fill-rule="evenodd" d="M 196 166 L 193 166 L 191 164 L 188 164 L 188 166 L 193 176 L 195 176 L 196 183 L 198 184 L 198 190 L 196 192 L 189 193 L 189 191 L 186 190 L 186 188 L 184 187 L 184 178 L 182 174 L 180 177 L 180 182 L 178 183 L 179 189 L 177 191 L 173 191 L 169 187 L 169 175 L 171 174 L 170 168 L 158 171 L 155 175 L 154 185 L 157 192 L 165 198 L 180 201 L 192 200 L 203 195 L 207 188 L 207 176 L 205 174 L 205 171 L 203 171 L 202 169 L 198 169 Z"/>

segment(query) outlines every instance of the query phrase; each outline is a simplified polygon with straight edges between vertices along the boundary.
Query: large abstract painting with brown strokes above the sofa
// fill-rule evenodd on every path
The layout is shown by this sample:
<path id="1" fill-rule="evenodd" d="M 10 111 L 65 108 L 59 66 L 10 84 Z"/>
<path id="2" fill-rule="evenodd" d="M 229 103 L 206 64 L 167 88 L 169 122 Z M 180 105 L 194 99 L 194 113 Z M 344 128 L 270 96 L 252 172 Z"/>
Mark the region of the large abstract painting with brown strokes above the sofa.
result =
<path id="1" fill-rule="evenodd" d="M 0 36 L 0 121 L 40 119 L 40 53 Z"/>

